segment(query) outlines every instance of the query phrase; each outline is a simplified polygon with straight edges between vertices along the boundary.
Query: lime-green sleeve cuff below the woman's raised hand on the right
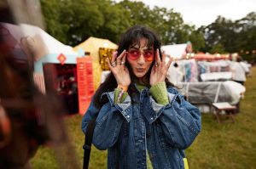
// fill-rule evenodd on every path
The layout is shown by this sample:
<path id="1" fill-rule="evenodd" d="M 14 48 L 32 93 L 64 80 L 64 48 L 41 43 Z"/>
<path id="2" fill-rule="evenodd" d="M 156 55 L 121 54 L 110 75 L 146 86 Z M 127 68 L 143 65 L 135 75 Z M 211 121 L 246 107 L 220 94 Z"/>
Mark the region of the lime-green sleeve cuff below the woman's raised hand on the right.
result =
<path id="1" fill-rule="evenodd" d="M 154 86 L 150 87 L 149 93 L 152 94 L 158 104 L 168 104 L 168 94 L 166 88 L 166 82 L 158 82 Z"/>

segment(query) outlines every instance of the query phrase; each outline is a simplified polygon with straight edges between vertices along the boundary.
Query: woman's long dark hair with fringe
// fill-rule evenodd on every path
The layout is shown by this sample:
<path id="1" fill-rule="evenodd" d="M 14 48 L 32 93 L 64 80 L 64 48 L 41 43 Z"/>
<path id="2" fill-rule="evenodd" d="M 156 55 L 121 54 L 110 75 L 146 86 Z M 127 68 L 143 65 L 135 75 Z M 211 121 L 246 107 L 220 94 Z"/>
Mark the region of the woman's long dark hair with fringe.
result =
<path id="1" fill-rule="evenodd" d="M 124 50 L 128 50 L 129 48 L 131 48 L 131 46 L 134 45 L 140 45 L 140 40 L 142 38 L 146 38 L 148 40 L 147 42 L 147 46 L 148 48 L 154 48 L 154 53 L 156 52 L 157 49 L 159 49 L 160 52 L 160 58 L 162 58 L 162 53 L 160 50 L 160 38 L 156 35 L 156 33 L 154 33 L 154 31 L 150 30 L 148 27 L 145 27 L 143 25 L 134 25 L 131 28 L 129 28 L 127 31 L 125 31 L 125 34 L 123 34 L 123 36 L 120 38 L 119 41 L 119 48 L 117 50 L 117 55 L 119 56 L 119 54 L 121 54 Z M 133 71 L 131 70 L 131 65 L 129 65 L 128 62 L 125 62 L 125 65 L 127 66 L 129 72 L 130 72 L 130 76 L 131 76 L 131 81 L 133 81 L 134 79 L 136 79 L 137 77 L 134 75 Z M 149 78 L 150 78 L 150 73 L 151 73 L 151 69 L 154 65 L 154 61 L 152 62 L 152 65 L 150 66 L 150 69 L 148 70 L 146 76 L 146 85 L 147 82 L 149 82 Z M 168 82 L 168 80 L 166 79 L 166 86 L 173 86 L 171 82 Z M 113 91 L 113 89 L 117 87 L 117 82 L 115 80 L 115 77 L 113 76 L 113 73 L 111 72 L 105 82 L 103 82 L 100 87 L 98 87 L 98 89 L 96 90 L 96 94 L 94 96 L 93 102 L 96 105 L 96 107 L 100 108 L 102 107 L 103 104 L 105 104 L 106 102 L 108 102 L 107 99 L 101 99 L 102 93 L 106 93 L 106 92 L 111 92 Z M 128 93 L 131 94 L 132 87 L 134 87 L 134 85 L 131 83 L 131 85 L 128 88 Z"/>

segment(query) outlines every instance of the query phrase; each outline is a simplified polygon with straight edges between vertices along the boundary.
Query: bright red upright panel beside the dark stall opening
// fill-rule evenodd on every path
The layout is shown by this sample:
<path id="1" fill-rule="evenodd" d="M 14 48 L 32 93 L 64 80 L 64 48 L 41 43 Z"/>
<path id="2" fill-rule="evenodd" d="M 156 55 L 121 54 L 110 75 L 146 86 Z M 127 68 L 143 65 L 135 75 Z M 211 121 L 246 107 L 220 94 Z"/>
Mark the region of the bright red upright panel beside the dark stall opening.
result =
<path id="1" fill-rule="evenodd" d="M 92 59 L 90 56 L 77 58 L 79 114 L 84 115 L 94 94 Z"/>

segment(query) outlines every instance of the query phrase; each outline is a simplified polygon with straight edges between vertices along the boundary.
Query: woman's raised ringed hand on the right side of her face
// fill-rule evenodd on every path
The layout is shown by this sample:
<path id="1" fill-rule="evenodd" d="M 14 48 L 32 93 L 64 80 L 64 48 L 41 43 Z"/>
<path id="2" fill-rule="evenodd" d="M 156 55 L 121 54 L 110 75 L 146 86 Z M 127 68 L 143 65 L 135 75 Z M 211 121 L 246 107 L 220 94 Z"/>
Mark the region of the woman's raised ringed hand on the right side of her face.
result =
<path id="1" fill-rule="evenodd" d="M 150 74 L 150 85 L 153 86 L 158 82 L 165 82 L 167 71 L 172 63 L 172 59 L 166 64 L 166 55 L 163 54 L 162 60 L 160 59 L 159 49 L 156 50 L 154 66 Z"/>

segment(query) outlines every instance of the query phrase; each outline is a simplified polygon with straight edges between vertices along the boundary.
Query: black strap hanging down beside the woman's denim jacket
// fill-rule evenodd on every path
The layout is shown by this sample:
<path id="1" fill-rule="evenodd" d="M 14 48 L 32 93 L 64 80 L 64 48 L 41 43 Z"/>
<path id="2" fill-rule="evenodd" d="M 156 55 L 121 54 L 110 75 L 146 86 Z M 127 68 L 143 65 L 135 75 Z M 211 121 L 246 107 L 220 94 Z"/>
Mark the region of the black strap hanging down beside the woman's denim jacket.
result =
<path id="1" fill-rule="evenodd" d="M 83 169 L 88 169 L 88 166 L 89 166 L 90 149 L 91 149 L 93 130 L 95 128 L 95 121 L 96 121 L 96 117 L 90 121 L 90 123 L 88 124 L 87 130 L 85 132 L 84 146 L 83 146 L 83 149 L 84 149 Z"/>

